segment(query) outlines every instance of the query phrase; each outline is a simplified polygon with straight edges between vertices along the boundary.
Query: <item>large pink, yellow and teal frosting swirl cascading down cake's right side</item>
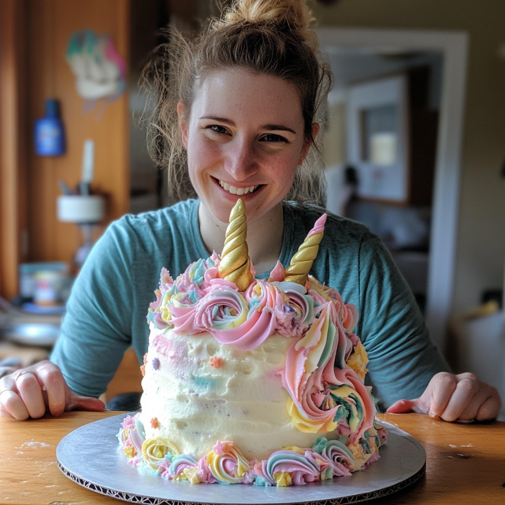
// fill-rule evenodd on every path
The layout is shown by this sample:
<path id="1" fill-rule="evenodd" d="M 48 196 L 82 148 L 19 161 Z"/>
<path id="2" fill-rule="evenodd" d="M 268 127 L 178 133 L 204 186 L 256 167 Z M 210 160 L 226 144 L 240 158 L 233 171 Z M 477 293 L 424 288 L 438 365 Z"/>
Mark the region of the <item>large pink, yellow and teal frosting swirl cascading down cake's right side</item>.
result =
<path id="1" fill-rule="evenodd" d="M 356 372 L 345 366 L 352 342 L 340 320 L 335 321 L 333 302 L 315 312 L 307 333 L 287 351 L 282 381 L 290 395 L 288 413 L 300 431 L 326 433 L 338 427 L 342 435 L 360 438 L 373 426 L 373 399 Z"/>

